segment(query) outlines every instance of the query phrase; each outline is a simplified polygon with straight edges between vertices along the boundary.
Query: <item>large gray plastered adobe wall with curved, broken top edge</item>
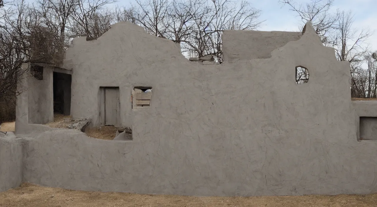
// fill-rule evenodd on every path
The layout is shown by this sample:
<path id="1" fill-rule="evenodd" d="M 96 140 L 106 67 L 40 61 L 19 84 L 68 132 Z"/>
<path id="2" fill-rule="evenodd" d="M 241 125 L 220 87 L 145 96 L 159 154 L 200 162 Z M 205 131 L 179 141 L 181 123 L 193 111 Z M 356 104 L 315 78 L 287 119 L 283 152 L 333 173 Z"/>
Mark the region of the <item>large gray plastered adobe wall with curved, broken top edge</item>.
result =
<path id="1" fill-rule="evenodd" d="M 75 38 L 64 63 L 72 116 L 98 125 L 99 87 L 118 86 L 133 140 L 73 130 L 25 138 L 24 180 L 197 196 L 376 192 L 376 142 L 357 138 L 359 116 L 377 116 L 377 105 L 351 102 L 349 63 L 310 25 L 270 56 L 200 65 L 127 22 L 98 40 Z M 295 82 L 298 65 L 310 72 L 306 84 Z M 131 107 L 134 86 L 153 87 L 150 107 Z"/>

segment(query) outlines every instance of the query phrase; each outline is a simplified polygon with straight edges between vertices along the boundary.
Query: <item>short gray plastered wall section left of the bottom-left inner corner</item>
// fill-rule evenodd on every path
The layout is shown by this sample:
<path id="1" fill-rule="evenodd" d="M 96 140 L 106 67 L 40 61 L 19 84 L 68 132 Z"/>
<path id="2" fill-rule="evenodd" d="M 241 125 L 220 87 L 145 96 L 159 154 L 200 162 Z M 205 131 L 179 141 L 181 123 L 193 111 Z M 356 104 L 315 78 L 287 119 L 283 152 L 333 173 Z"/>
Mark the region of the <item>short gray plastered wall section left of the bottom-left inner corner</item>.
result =
<path id="1" fill-rule="evenodd" d="M 18 187 L 22 181 L 22 146 L 13 132 L 0 133 L 0 192 Z"/>

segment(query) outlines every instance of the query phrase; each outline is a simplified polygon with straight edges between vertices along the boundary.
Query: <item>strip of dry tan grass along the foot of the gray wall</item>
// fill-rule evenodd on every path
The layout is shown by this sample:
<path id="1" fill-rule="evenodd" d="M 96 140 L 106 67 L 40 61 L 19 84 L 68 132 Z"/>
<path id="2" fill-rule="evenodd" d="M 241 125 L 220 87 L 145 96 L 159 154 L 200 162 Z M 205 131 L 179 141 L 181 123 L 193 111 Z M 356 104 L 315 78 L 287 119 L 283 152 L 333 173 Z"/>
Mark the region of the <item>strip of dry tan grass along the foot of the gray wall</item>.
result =
<path id="1" fill-rule="evenodd" d="M 257 197 L 195 197 L 178 195 L 142 195 L 102 193 L 40 187 L 24 183 L 21 187 L 0 193 L 1 207 L 373 207 L 377 194 L 306 195 Z"/>

